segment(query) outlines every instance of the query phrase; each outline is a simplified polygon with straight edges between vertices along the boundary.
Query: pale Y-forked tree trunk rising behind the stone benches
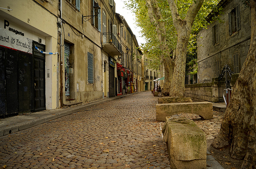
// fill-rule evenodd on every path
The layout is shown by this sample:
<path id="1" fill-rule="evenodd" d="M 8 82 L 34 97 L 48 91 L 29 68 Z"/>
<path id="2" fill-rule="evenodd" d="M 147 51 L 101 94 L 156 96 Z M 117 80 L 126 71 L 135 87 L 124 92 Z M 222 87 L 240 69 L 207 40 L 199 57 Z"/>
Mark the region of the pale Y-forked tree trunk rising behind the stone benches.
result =
<path id="1" fill-rule="evenodd" d="M 192 24 L 203 2 L 204 0 L 194 1 L 189 7 L 185 19 L 181 19 L 175 0 L 168 0 L 169 8 L 172 11 L 174 26 L 178 34 L 173 80 L 170 83 L 170 96 L 184 96 L 188 40 L 191 34 Z"/>

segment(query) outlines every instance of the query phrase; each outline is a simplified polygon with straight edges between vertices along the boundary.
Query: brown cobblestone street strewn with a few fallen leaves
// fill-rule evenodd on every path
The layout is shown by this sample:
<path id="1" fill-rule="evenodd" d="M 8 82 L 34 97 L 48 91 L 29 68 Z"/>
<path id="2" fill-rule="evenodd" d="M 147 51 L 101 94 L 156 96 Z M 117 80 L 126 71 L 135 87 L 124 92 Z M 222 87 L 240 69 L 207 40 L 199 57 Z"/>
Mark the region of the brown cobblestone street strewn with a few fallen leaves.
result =
<path id="1" fill-rule="evenodd" d="M 170 168 L 156 103 L 137 93 L 0 137 L 0 167 Z"/>

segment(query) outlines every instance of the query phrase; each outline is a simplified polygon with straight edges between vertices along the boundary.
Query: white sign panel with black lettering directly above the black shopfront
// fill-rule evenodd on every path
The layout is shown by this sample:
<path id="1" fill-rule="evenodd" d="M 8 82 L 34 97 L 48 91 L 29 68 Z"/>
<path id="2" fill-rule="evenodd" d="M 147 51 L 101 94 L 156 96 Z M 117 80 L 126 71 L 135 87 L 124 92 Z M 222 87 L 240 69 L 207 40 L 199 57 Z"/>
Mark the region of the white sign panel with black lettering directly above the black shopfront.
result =
<path id="1" fill-rule="evenodd" d="M 0 28 L 0 45 L 32 54 L 32 40 L 24 37 L 24 34 L 17 34 Z"/>

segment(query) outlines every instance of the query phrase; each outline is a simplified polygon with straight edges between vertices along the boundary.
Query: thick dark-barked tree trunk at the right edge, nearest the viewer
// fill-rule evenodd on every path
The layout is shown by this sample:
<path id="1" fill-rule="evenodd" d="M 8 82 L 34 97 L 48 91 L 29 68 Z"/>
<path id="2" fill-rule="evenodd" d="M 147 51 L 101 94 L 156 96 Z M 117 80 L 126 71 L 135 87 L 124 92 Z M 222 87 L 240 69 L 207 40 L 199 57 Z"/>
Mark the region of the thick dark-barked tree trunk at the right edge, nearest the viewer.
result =
<path id="1" fill-rule="evenodd" d="M 256 166 L 256 0 L 251 0 L 251 42 L 247 58 L 212 146 L 230 146 L 230 155 L 244 159 L 242 168 Z"/>

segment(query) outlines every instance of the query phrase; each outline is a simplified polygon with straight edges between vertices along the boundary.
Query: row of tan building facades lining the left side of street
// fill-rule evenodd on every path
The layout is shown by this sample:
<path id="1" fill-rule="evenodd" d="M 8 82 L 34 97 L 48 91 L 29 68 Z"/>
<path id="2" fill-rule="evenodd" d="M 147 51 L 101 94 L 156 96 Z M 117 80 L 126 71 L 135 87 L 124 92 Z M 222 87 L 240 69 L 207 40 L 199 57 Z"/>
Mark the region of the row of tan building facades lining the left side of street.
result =
<path id="1" fill-rule="evenodd" d="M 142 53 L 113 0 L 10 0 L 1 7 L 1 117 L 124 94 L 117 64 L 124 66 L 125 53 L 126 73 L 139 84 Z"/>

